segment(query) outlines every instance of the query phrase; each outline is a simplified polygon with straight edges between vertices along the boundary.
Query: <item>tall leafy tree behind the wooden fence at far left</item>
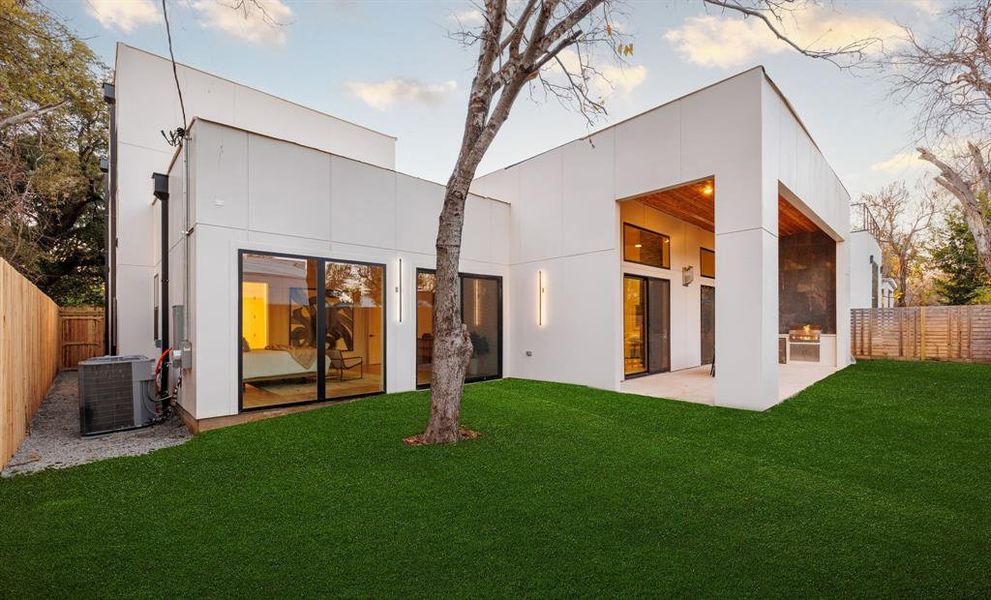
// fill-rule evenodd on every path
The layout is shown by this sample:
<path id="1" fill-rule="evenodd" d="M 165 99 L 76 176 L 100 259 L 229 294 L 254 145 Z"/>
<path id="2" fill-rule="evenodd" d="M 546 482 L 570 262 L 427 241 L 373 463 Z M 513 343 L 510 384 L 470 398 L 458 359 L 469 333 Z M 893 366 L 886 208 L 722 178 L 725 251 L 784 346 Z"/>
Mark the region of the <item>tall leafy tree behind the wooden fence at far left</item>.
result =
<path id="1" fill-rule="evenodd" d="M 102 304 L 107 68 L 40 3 L 0 8 L 0 257 L 59 304 Z"/>

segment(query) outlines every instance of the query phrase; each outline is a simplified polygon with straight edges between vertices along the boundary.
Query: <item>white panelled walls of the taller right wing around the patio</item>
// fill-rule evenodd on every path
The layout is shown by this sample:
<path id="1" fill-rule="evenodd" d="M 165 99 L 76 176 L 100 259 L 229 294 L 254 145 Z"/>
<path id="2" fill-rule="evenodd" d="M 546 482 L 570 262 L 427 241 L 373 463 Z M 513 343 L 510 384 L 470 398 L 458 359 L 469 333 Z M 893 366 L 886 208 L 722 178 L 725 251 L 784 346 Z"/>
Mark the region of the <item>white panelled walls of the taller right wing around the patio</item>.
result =
<path id="1" fill-rule="evenodd" d="M 715 178 L 720 290 L 717 404 L 762 409 L 777 402 L 782 184 L 839 244 L 837 320 L 844 325 L 838 338 L 846 341 L 837 343 L 848 346 L 842 315 L 848 306 L 843 244 L 849 198 L 756 68 L 475 181 L 473 190 L 512 204 L 509 373 L 618 389 L 622 273 L 638 271 L 621 261 L 617 201 L 709 176 Z M 538 271 L 546 290 L 543 327 L 536 326 Z M 672 367 L 692 366 L 698 364 L 698 313 L 688 307 L 697 290 L 681 289 L 680 270 L 672 268 L 670 279 Z"/>

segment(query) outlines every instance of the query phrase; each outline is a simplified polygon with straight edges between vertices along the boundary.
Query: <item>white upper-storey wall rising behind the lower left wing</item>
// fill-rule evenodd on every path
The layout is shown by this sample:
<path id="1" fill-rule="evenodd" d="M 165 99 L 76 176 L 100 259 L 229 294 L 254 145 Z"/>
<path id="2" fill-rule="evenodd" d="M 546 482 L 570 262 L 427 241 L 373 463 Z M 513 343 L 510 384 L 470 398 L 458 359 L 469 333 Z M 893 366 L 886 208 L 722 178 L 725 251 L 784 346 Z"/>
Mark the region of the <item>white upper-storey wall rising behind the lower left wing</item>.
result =
<path id="1" fill-rule="evenodd" d="M 178 68 L 186 116 L 213 118 L 385 168 L 395 167 L 395 138 L 184 65 Z M 182 124 L 171 63 L 125 44 L 114 70 L 117 129 L 117 350 L 153 355 L 147 301 L 158 227 L 151 174 L 164 173 L 174 149 L 161 131 Z"/>

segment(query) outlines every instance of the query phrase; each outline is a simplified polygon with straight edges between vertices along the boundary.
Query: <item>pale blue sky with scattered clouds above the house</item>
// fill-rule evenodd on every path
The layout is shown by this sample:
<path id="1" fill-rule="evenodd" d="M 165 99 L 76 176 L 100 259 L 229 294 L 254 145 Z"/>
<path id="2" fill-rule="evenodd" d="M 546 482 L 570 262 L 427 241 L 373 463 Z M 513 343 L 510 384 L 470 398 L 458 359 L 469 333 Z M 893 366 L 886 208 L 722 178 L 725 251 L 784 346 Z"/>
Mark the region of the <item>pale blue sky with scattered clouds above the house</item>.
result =
<path id="1" fill-rule="evenodd" d="M 478 22 L 470 2 L 166 0 L 176 60 L 399 138 L 397 169 L 444 182 L 461 141 L 475 48 L 450 33 Z M 902 28 L 946 35 L 951 0 L 835 0 L 783 26 L 803 45 L 864 38 L 897 49 Z M 167 55 L 161 0 L 43 0 L 113 66 L 125 42 Z M 701 0 L 629 0 L 616 27 L 634 53 L 602 55 L 596 85 L 608 114 L 592 128 L 555 100 L 521 94 L 478 174 L 581 137 L 755 65 L 791 100 L 854 200 L 896 180 L 930 176 L 915 158 L 914 107 L 890 98 L 878 73 L 839 69 L 789 49 L 755 19 Z M 875 45 L 880 49 L 880 44 Z"/>

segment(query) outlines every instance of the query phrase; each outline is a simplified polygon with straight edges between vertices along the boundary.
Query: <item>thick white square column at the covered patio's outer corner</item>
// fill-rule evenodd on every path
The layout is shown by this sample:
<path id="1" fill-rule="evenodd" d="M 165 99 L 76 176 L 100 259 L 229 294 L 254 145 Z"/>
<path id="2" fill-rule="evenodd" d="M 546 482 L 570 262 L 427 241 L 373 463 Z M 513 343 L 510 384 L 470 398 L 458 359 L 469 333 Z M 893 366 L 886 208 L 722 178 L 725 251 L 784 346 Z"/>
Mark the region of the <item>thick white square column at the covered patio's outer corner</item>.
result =
<path id="1" fill-rule="evenodd" d="M 715 402 L 763 410 L 778 402 L 778 190 L 751 166 L 716 175 Z"/>

